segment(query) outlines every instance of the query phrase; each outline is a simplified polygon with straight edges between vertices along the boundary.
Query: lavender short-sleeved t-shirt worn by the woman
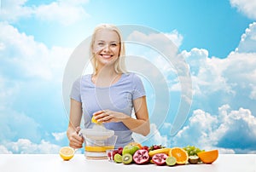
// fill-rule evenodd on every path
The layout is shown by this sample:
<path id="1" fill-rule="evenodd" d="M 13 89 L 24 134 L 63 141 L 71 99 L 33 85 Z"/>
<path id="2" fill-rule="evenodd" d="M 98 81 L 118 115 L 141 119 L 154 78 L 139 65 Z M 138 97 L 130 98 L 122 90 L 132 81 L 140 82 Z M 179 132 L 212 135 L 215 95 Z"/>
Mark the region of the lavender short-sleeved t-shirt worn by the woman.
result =
<path id="1" fill-rule="evenodd" d="M 123 112 L 131 116 L 133 100 L 146 95 L 143 82 L 134 73 L 123 73 L 117 83 L 110 87 L 96 87 L 91 75 L 84 75 L 73 83 L 71 98 L 82 102 L 84 128 L 92 128 L 92 114 L 100 110 Z M 107 129 L 113 129 L 118 140 L 115 147 L 125 146 L 134 141 L 131 130 L 124 123 L 104 123 Z"/>

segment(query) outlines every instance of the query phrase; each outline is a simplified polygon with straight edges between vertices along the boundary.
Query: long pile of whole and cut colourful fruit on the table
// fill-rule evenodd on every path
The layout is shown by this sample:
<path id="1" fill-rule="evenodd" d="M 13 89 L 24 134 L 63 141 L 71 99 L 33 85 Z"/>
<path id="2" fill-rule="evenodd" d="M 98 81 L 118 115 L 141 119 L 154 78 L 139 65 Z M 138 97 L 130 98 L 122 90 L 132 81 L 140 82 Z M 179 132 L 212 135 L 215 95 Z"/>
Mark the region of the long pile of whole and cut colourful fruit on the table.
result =
<path id="1" fill-rule="evenodd" d="M 218 158 L 218 150 L 205 152 L 195 146 L 168 148 L 161 145 L 142 146 L 139 143 L 131 143 L 119 147 L 108 154 L 115 163 L 154 163 L 156 165 L 181 165 L 186 163 L 213 163 Z"/>

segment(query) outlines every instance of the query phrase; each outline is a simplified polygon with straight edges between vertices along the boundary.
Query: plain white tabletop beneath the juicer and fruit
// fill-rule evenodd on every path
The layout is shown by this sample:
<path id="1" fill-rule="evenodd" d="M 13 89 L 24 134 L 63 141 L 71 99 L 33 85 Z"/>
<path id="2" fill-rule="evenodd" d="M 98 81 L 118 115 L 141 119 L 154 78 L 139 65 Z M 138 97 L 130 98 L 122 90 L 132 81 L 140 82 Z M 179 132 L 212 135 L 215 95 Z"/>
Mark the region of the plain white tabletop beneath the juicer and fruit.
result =
<path id="1" fill-rule="evenodd" d="M 0 154 L 1 172 L 256 172 L 256 154 L 220 154 L 212 164 L 186 164 L 174 167 L 154 164 L 137 165 L 111 163 L 107 159 L 91 160 L 82 154 L 75 154 L 70 161 L 63 161 L 57 154 Z"/>

